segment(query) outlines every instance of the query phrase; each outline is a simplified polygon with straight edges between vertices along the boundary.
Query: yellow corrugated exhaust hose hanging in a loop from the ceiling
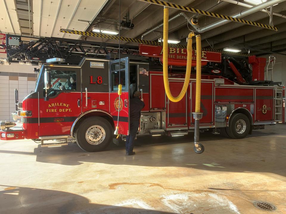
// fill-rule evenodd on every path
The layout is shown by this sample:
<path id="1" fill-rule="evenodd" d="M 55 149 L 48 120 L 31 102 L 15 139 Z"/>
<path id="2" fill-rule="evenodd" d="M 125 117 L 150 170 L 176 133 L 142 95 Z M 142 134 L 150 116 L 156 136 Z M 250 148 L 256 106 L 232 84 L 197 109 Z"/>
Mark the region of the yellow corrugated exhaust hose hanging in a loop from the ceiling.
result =
<path id="1" fill-rule="evenodd" d="M 163 22 L 163 78 L 164 78 L 164 87 L 167 94 L 167 97 L 172 102 L 179 102 L 184 95 L 189 86 L 189 79 L 191 76 L 192 68 L 192 37 L 195 36 L 194 32 L 190 32 L 188 35 L 188 44 L 187 44 L 187 67 L 186 67 L 186 76 L 183 88 L 178 95 L 178 97 L 173 97 L 170 91 L 169 79 L 168 79 L 168 30 L 169 30 L 169 9 L 164 8 L 164 22 Z M 200 76 L 201 76 L 201 43 L 200 35 L 196 36 L 197 43 L 197 83 L 196 83 L 196 110 L 195 112 L 200 112 Z M 198 57 L 199 56 L 199 57 Z M 197 110 L 198 108 L 198 110 Z"/>

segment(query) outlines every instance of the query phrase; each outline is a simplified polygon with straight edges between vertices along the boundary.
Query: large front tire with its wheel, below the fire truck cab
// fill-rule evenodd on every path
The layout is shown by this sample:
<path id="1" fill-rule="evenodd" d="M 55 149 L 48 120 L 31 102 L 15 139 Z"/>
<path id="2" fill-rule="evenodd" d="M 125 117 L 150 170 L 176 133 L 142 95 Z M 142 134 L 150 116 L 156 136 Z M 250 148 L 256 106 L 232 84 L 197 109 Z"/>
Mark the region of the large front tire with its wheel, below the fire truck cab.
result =
<path id="1" fill-rule="evenodd" d="M 75 133 L 75 139 L 82 150 L 100 152 L 109 146 L 112 135 L 112 127 L 106 119 L 89 117 L 80 123 Z"/>

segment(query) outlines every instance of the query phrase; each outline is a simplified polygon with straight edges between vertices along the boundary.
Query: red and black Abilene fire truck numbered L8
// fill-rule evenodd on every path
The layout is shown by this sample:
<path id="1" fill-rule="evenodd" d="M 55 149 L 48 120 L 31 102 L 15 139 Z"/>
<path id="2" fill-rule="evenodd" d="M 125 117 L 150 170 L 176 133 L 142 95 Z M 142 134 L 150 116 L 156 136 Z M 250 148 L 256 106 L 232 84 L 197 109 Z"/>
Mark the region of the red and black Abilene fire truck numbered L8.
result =
<path id="1" fill-rule="evenodd" d="M 142 56 L 160 57 L 160 48 L 154 50 L 140 46 Z M 169 81 L 174 96 L 180 93 L 185 75 L 171 65 L 184 66 L 184 54 L 184 49 L 169 50 Z M 274 125 L 276 88 L 240 85 L 235 83 L 238 78 L 223 77 L 220 75 L 223 67 L 217 65 L 221 59 L 220 53 L 202 53 L 202 64 L 210 72 L 202 75 L 200 128 L 241 139 L 254 129 Z M 195 52 L 193 60 L 195 62 Z M 264 80 L 265 61 L 249 58 L 249 62 L 253 63 L 253 81 Z M 230 64 L 227 67 L 231 68 Z M 242 73 L 233 72 L 235 75 Z M 44 64 L 35 92 L 27 95 L 22 103 L 17 102 L 13 119 L 22 123 L 1 121 L 1 140 L 33 139 L 42 146 L 49 146 L 45 140 L 66 139 L 65 143 L 58 144 L 64 145 L 69 137 L 74 137 L 81 149 L 102 151 L 116 137 L 117 121 L 119 134 L 128 135 L 129 103 L 134 91 L 141 92 L 145 103 L 138 136 L 187 135 L 194 129 L 195 82 L 193 74 L 185 97 L 173 103 L 165 94 L 162 69 L 160 66 L 151 68 L 148 62 L 125 57 L 116 60 L 83 58 L 78 66 Z M 122 84 L 120 98 L 119 84 Z M 285 97 L 285 90 L 283 95 Z"/>

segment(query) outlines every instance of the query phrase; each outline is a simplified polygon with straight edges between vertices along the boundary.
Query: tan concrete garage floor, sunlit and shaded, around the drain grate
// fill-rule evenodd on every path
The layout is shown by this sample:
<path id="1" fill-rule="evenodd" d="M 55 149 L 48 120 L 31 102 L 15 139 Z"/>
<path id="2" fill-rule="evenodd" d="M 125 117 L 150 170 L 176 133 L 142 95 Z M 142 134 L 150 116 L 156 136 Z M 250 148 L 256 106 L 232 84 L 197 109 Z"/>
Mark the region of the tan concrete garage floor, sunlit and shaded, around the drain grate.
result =
<path id="1" fill-rule="evenodd" d="M 0 213 L 286 213 L 286 124 L 246 139 L 201 133 L 140 138 L 87 153 L 76 144 L 41 148 L 31 140 L 0 141 Z M 147 142 L 147 143 L 146 143 Z"/>

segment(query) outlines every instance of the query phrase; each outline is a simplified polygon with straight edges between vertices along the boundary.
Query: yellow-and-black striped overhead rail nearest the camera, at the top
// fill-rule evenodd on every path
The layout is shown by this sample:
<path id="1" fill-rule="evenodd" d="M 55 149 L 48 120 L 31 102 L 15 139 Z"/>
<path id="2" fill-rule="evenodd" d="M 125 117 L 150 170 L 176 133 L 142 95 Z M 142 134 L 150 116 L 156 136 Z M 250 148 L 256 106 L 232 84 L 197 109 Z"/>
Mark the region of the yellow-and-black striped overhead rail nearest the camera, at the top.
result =
<path id="1" fill-rule="evenodd" d="M 164 6 L 164 7 L 170 7 L 170 8 L 174 8 L 174 9 L 178 9 L 178 10 L 183 10 L 186 12 L 198 13 L 198 14 L 205 15 L 205 16 L 225 19 L 228 21 L 233 21 L 233 22 L 238 22 L 238 23 L 243 23 L 243 24 L 247 24 L 247 25 L 251 25 L 251 26 L 256 26 L 256 27 L 261 27 L 261 28 L 265 28 L 265 29 L 269 29 L 269 30 L 278 31 L 277 27 L 274 27 L 271 25 L 265 25 L 265 24 L 261 24 L 261 23 L 257 23 L 257 22 L 247 21 L 247 20 L 240 19 L 240 18 L 234 18 L 234 17 L 227 16 L 227 15 L 220 15 L 217 13 L 212 13 L 212 12 L 208 12 L 208 11 L 204 11 L 204 10 L 198 10 L 198 9 L 195 9 L 192 7 L 185 7 L 185 6 L 174 4 L 171 2 L 160 1 L 160 0 L 137 0 L 137 1 L 144 1 L 144 2 L 151 3 L 151 4 L 157 4 L 157 5 Z"/>

